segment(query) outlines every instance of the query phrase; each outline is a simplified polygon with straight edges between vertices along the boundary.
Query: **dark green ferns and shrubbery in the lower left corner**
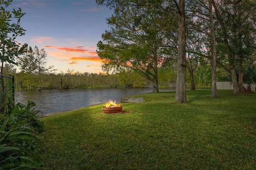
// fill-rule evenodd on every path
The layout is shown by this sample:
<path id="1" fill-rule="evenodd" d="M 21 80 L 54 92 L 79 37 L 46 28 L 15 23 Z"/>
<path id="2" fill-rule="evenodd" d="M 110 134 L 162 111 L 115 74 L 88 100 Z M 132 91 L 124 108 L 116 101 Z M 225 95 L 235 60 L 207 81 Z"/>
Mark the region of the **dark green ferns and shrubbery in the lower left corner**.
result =
<path id="1" fill-rule="evenodd" d="M 40 168 L 37 134 L 44 124 L 37 119 L 39 111 L 32 109 L 34 105 L 18 103 L 0 114 L 0 170 Z"/>

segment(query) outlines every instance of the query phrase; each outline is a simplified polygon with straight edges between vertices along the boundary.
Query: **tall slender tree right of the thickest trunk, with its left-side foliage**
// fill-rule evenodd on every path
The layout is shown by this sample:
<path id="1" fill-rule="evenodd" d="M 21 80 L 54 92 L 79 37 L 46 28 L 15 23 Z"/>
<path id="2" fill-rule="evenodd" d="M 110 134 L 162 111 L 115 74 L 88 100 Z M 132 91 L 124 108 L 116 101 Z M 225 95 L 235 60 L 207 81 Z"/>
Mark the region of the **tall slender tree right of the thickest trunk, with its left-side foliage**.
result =
<path id="1" fill-rule="evenodd" d="M 212 8 L 212 0 L 194 0 L 190 1 L 190 3 L 188 10 L 190 20 L 187 21 L 189 23 L 188 29 L 196 31 L 198 35 L 202 34 L 200 37 L 206 39 L 206 41 L 203 41 L 204 44 L 202 42 L 197 42 L 196 44 L 202 45 L 199 51 L 199 53 L 203 54 L 201 56 L 211 61 L 212 97 L 218 97 L 216 86 L 217 54 L 214 30 L 216 19 Z M 194 53 L 194 51 L 191 51 L 191 53 Z"/>

